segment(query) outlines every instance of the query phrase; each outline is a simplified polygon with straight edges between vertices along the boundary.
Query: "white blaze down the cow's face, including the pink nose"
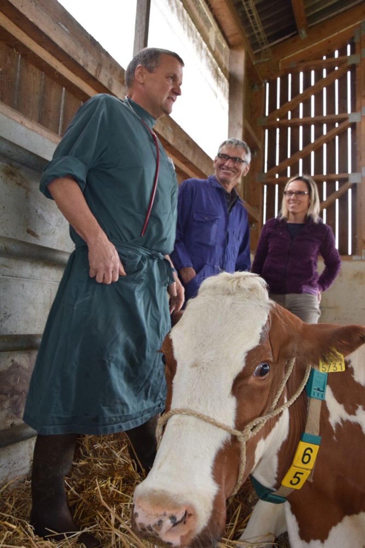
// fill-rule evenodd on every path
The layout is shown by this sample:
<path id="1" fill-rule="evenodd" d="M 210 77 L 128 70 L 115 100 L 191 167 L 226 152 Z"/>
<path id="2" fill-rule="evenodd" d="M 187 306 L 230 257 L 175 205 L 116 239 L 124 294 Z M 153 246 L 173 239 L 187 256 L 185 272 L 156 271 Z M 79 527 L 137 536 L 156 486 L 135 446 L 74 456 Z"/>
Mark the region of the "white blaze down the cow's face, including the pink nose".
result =
<path id="1" fill-rule="evenodd" d="M 239 299 L 237 290 L 242 293 Z M 247 353 L 259 344 L 269 310 L 263 280 L 250 273 L 221 274 L 202 284 L 199 298 L 189 301 L 170 334 L 176 361 L 171 409 L 192 409 L 235 427 L 233 383 L 245 368 Z M 199 418 L 172 416 L 153 469 L 136 488 L 137 526 L 152 537 L 153 529 L 159 529 L 160 540 L 172 546 L 188 546 L 210 520 L 218 492 L 215 459 L 229 438 L 229 433 Z M 170 522 L 160 506 L 166 497 Z M 224 503 L 225 494 L 222 498 Z M 219 529 L 224 522 L 223 504 Z"/>

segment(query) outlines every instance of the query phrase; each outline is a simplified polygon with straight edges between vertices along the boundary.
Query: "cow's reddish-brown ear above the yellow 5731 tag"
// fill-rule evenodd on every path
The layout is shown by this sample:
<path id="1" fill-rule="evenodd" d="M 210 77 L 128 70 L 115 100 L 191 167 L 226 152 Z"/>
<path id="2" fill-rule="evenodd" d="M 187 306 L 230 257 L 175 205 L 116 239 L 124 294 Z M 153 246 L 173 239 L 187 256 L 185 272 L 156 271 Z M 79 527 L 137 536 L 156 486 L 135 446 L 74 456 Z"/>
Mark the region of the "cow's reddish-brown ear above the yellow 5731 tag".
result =
<path id="1" fill-rule="evenodd" d="M 327 356 L 337 350 L 344 357 L 354 352 L 365 343 L 364 326 L 335 326 L 331 323 L 305 324 L 304 340 L 309 341 L 308 358 L 315 359 Z M 312 354 L 312 356 L 311 356 Z"/>

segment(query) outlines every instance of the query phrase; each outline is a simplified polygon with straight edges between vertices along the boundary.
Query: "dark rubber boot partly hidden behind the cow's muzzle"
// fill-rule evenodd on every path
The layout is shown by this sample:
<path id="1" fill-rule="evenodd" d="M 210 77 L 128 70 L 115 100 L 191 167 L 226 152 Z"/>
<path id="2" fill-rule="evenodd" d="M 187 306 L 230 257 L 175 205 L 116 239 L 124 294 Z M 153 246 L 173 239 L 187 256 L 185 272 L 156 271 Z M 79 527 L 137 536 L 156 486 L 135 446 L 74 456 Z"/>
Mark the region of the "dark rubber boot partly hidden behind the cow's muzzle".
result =
<path id="1" fill-rule="evenodd" d="M 148 474 L 152 468 L 157 452 L 156 426 L 158 415 L 153 416 L 147 423 L 141 424 L 126 432 L 129 438 L 129 454 L 135 460 L 137 472 Z"/>

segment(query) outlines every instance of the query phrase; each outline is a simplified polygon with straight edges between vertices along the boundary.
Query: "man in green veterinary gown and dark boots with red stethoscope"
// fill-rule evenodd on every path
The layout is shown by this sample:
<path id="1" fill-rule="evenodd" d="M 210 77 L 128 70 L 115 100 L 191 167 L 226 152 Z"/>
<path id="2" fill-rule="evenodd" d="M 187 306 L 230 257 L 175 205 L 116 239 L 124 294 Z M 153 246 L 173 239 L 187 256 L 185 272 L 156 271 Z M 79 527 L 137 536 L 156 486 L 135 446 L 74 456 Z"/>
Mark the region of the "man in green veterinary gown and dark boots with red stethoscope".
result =
<path id="1" fill-rule="evenodd" d="M 76 246 L 24 413 L 38 432 L 31 523 L 42 536 L 77 530 L 63 478 L 78 434 L 128 431 L 142 467 L 153 463 L 165 402 L 159 349 L 184 295 L 168 255 L 177 181 L 152 127 L 181 94 L 182 67 L 167 50 L 138 53 L 125 73 L 126 99 L 101 94 L 82 105 L 42 174 L 40 190 L 65 215 Z M 99 546 L 87 533 L 79 540 Z"/>

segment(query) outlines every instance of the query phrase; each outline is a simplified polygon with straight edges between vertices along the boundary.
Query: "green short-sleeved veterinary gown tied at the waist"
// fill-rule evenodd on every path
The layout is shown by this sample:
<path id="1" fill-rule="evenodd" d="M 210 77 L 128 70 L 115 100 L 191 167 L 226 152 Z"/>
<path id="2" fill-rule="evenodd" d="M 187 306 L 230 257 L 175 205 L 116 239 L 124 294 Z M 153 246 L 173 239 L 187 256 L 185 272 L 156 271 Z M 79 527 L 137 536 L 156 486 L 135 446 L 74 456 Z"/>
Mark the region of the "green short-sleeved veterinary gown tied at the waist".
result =
<path id="1" fill-rule="evenodd" d="M 90 278 L 88 248 L 70 227 L 76 249 L 51 307 L 24 413 L 43 435 L 129 430 L 164 409 L 159 349 L 170 328 L 166 287 L 173 278 L 163 255 L 175 240 L 177 181 L 160 146 L 157 192 L 141 237 L 157 154 L 140 117 L 153 127 L 134 101 L 94 96 L 42 174 L 40 190 L 49 198 L 54 179 L 78 182 L 127 273 L 110 285 Z"/>

